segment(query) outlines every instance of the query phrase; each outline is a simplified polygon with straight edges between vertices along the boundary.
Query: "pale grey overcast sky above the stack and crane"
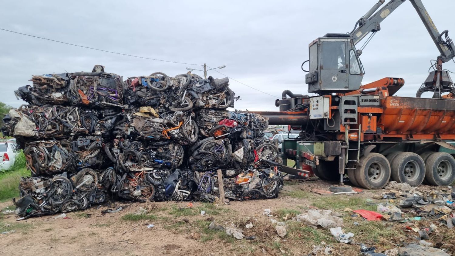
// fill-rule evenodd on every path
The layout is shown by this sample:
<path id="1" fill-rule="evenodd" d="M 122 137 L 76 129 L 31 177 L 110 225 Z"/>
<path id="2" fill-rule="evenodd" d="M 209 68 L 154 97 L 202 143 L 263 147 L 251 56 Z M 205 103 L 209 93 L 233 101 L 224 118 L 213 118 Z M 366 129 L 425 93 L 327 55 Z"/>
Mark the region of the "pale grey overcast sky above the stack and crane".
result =
<path id="1" fill-rule="evenodd" d="M 349 2 L 349 4 L 348 4 Z M 242 100 L 238 109 L 278 111 L 274 100 L 289 89 L 305 93 L 308 44 L 328 32 L 349 32 L 377 0 L 230 1 L 2 1 L 0 27 L 107 51 L 169 61 L 226 65 L 220 72 Z M 454 0 L 423 0 L 440 31 L 455 38 Z M 436 3 L 437 2 L 437 3 Z M 407 2 L 381 23 L 364 49 L 363 83 L 402 77 L 400 96 L 415 96 L 439 56 L 412 5 Z M 13 91 L 31 75 L 106 72 L 126 77 L 185 73 L 184 64 L 138 59 L 0 31 L 0 101 L 18 107 Z M 453 62 L 444 66 L 455 71 Z M 202 76 L 202 72 L 197 72 Z M 214 71 L 209 75 L 221 78 Z M 455 79 L 455 77 L 454 77 Z"/>

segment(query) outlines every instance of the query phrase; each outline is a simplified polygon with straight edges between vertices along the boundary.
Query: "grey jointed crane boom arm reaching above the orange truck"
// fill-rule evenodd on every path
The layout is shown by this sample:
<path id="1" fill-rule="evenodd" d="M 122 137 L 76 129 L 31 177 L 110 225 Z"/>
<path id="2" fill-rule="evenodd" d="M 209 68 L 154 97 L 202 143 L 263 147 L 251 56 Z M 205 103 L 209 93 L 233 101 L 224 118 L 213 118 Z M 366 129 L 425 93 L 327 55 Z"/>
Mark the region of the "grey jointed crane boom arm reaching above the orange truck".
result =
<path id="1" fill-rule="evenodd" d="M 406 0 L 390 0 L 384 7 L 379 11 L 379 7 L 384 4 L 384 0 L 379 0 L 371 10 L 369 10 L 364 16 L 362 16 L 359 21 L 357 21 L 354 30 L 350 33 L 352 35 L 352 40 L 354 45 L 359 43 L 362 39 L 365 38 L 370 32 L 377 32 L 381 30 L 380 23 L 387 18 L 390 13 L 396 10 L 402 3 Z M 435 26 L 435 23 L 431 19 L 427 10 L 425 9 L 424 4 L 421 0 L 409 0 L 417 11 L 420 19 L 424 23 L 425 28 L 431 36 L 431 39 L 435 43 L 436 47 L 440 52 L 440 59 L 442 62 L 450 61 L 455 56 L 455 46 L 452 40 L 448 36 L 448 31 L 445 30 L 442 33 L 438 31 Z M 357 27 L 358 26 L 358 27 Z M 445 40 L 441 37 L 445 36 Z"/>

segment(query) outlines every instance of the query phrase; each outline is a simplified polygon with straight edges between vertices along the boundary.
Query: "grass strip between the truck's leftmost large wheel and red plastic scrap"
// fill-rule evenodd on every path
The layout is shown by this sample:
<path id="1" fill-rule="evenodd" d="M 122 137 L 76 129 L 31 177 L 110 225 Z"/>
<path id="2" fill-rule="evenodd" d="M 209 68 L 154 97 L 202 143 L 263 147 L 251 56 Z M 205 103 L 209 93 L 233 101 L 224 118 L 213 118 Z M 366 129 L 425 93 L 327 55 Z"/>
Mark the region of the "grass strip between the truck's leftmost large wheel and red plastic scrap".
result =
<path id="1" fill-rule="evenodd" d="M 313 200 L 313 206 L 319 209 L 329 210 L 343 210 L 344 208 L 350 208 L 352 210 L 371 210 L 376 211 L 376 204 L 372 204 L 360 197 L 339 197 L 336 195 L 320 197 L 319 200 Z"/>

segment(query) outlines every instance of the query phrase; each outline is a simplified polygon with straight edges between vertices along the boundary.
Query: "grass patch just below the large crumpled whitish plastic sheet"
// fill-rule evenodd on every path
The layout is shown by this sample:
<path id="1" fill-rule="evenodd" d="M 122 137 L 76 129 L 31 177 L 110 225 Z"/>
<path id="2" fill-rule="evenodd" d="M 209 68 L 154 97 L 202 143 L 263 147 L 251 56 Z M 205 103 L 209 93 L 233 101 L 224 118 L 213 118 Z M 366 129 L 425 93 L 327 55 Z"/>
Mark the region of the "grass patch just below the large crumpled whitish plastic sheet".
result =
<path id="1" fill-rule="evenodd" d="M 322 241 L 329 242 L 331 238 L 330 231 L 314 229 L 297 221 L 288 222 L 287 233 L 286 236 L 290 239 L 303 239 L 314 244 L 320 244 Z"/>

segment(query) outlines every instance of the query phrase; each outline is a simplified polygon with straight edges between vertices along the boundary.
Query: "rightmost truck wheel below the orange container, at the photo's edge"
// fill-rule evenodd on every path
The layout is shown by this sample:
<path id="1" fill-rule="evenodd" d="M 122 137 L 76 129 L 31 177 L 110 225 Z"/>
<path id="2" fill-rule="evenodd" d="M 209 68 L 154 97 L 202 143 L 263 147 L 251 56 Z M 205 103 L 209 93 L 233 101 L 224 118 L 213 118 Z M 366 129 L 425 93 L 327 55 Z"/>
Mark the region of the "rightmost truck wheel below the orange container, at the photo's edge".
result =
<path id="1" fill-rule="evenodd" d="M 455 180 L 455 159 L 448 153 L 430 154 L 426 161 L 425 178 L 431 185 L 447 186 Z"/>

